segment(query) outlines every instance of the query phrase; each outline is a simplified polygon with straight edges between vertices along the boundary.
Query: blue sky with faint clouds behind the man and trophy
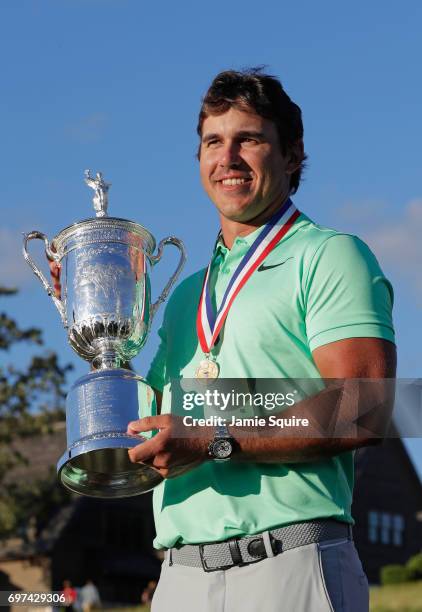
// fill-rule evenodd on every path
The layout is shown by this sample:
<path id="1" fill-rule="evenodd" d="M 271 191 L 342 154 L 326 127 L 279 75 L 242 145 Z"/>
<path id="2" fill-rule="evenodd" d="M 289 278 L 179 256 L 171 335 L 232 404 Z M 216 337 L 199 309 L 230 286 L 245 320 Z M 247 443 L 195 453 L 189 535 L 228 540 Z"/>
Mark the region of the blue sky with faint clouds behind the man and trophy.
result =
<path id="1" fill-rule="evenodd" d="M 205 265 L 218 224 L 195 160 L 200 99 L 218 71 L 266 64 L 303 111 L 309 164 L 295 204 L 368 241 L 395 288 L 399 374 L 420 376 L 421 21 L 417 0 L 2 2 L 0 283 L 20 288 L 4 308 L 45 330 L 75 363 L 71 378 L 87 371 L 21 256 L 23 231 L 53 237 L 91 215 L 87 167 L 113 183 L 110 214 L 182 238 L 185 275 Z M 174 265 L 169 249 L 156 293 Z M 422 470 L 421 440 L 410 447 Z"/>

